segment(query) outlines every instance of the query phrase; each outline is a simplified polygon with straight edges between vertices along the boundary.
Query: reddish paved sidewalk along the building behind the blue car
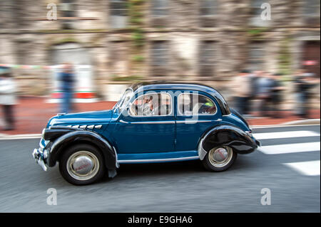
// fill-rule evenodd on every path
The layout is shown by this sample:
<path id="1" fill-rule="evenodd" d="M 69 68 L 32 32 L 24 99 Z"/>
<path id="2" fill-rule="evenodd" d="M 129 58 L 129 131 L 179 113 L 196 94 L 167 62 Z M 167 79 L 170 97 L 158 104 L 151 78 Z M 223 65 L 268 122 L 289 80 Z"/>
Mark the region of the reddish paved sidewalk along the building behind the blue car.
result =
<path id="1" fill-rule="evenodd" d="M 93 102 L 93 103 L 74 103 L 76 110 L 74 112 L 84 112 L 93 110 L 108 110 L 115 105 L 116 102 Z M 0 125 L 1 134 L 40 134 L 42 129 L 46 126 L 49 118 L 56 115 L 58 112 L 57 103 L 46 103 L 46 97 L 21 97 L 19 105 L 16 105 L 15 119 L 16 130 L 4 131 Z M 292 115 L 292 112 L 282 112 L 285 117 L 282 118 L 254 118 L 248 119 L 250 125 L 280 125 L 286 122 L 300 120 Z M 320 119 L 320 110 L 312 110 L 310 118 Z M 2 111 L 0 112 L 0 119 L 3 119 Z"/>

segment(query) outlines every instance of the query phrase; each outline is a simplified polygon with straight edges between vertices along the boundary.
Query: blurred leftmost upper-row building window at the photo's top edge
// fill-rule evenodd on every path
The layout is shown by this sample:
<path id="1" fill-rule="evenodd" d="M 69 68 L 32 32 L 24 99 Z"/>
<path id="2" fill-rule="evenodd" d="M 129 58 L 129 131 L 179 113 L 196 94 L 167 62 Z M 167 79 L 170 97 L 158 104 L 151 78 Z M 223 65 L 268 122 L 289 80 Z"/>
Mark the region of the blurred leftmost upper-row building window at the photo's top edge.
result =
<path id="1" fill-rule="evenodd" d="M 76 16 L 76 4 L 74 0 L 61 0 L 58 9 L 60 10 L 61 17 L 72 18 Z M 63 29 L 72 29 L 73 23 L 71 20 L 63 19 L 62 26 Z"/>

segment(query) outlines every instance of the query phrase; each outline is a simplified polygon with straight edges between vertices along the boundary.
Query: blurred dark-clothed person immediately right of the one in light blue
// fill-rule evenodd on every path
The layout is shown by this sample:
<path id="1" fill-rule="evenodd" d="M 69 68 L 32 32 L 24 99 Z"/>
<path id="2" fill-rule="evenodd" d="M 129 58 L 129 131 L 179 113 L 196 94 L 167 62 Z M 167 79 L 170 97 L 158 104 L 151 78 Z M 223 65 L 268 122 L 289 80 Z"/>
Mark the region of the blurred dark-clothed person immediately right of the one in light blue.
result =
<path id="1" fill-rule="evenodd" d="M 272 105 L 272 114 L 273 117 L 279 118 L 282 117 L 280 115 L 280 103 L 282 102 L 282 90 L 285 88 L 282 87 L 282 83 L 280 81 L 280 73 L 274 73 L 270 75 L 271 80 L 271 90 L 270 90 L 270 104 Z M 278 112 L 278 113 L 277 113 Z"/>

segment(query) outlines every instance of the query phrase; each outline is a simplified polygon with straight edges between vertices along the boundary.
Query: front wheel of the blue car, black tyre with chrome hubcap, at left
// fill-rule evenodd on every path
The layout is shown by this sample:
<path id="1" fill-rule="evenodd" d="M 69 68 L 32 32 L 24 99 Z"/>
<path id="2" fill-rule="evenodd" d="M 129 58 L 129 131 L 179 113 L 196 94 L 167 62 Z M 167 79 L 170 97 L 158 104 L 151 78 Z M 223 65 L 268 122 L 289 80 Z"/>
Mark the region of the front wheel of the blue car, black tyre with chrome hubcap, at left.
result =
<path id="1" fill-rule="evenodd" d="M 89 144 L 69 147 L 61 156 L 59 170 L 71 184 L 85 185 L 98 181 L 105 174 L 103 155 Z"/>

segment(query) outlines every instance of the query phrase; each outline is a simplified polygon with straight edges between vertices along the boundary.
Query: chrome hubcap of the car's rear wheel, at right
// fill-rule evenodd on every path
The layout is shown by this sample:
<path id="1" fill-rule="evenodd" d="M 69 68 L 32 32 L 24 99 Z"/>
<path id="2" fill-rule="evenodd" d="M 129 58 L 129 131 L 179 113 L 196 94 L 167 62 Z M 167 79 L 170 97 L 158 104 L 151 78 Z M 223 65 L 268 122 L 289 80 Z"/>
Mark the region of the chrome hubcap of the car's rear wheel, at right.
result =
<path id="1" fill-rule="evenodd" d="M 224 167 L 232 159 L 233 150 L 230 147 L 215 147 L 210 150 L 208 160 L 214 167 Z"/>

